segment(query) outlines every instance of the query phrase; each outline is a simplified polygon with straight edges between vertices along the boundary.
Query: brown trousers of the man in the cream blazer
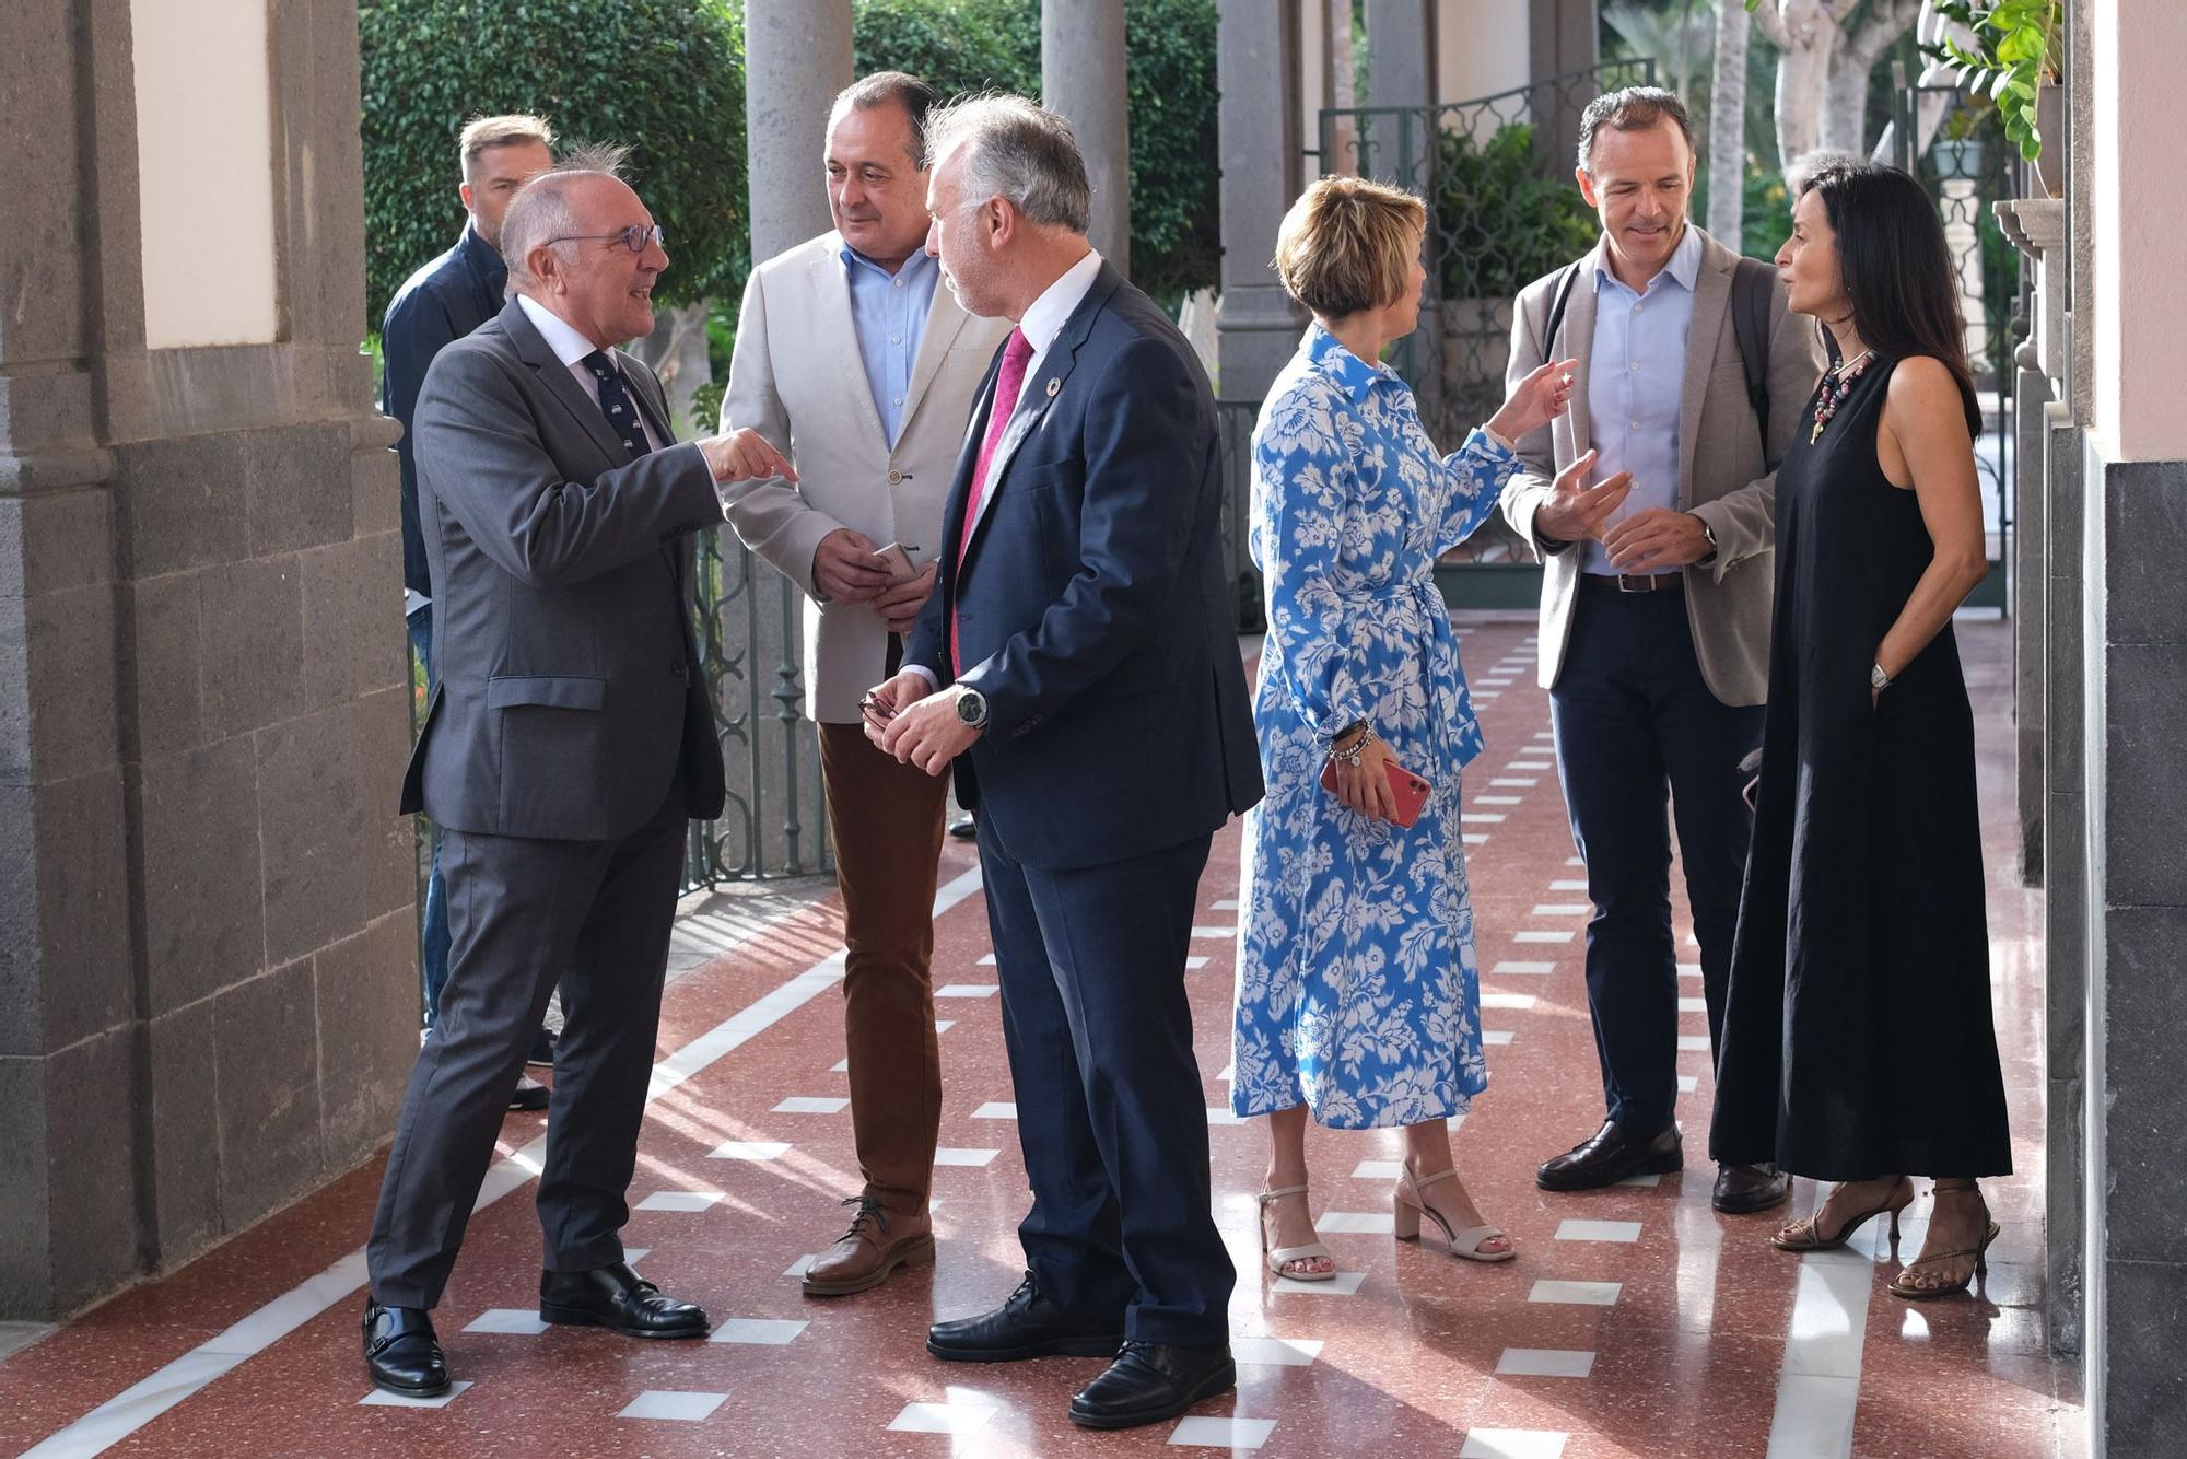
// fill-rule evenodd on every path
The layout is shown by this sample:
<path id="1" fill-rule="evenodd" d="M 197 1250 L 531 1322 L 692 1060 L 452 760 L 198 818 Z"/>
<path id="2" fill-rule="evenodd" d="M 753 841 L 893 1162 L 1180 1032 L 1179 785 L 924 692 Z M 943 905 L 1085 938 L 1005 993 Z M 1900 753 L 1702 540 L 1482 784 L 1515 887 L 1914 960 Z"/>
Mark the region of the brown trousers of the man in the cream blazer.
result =
<path id="1" fill-rule="evenodd" d="M 943 1063 L 934 1037 L 934 884 L 947 777 L 884 755 L 864 726 L 820 726 L 842 888 L 851 1135 L 866 1194 L 921 1218 L 934 1183 Z"/>

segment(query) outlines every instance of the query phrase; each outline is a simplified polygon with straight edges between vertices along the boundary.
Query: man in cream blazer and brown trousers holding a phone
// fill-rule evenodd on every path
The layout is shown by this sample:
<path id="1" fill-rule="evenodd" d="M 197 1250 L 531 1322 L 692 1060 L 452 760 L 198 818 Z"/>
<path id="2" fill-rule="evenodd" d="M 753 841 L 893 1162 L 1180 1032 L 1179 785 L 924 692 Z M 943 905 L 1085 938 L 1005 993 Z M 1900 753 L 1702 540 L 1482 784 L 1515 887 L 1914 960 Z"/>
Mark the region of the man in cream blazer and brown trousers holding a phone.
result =
<path id="1" fill-rule="evenodd" d="M 796 466 L 726 499 L 737 536 L 805 591 L 805 669 L 842 886 L 851 1129 L 864 1190 L 851 1229 L 805 1273 L 835 1297 L 934 1260 L 927 1190 L 940 1129 L 934 882 L 949 781 L 859 728 L 859 696 L 897 672 L 934 591 L 943 499 L 973 392 L 1008 319 L 973 319 L 925 254 L 923 125 L 934 90 L 879 72 L 835 98 L 835 230 L 752 271 L 722 418 Z M 884 553 L 881 549 L 901 549 Z M 892 575 L 890 562 L 910 575 Z"/>

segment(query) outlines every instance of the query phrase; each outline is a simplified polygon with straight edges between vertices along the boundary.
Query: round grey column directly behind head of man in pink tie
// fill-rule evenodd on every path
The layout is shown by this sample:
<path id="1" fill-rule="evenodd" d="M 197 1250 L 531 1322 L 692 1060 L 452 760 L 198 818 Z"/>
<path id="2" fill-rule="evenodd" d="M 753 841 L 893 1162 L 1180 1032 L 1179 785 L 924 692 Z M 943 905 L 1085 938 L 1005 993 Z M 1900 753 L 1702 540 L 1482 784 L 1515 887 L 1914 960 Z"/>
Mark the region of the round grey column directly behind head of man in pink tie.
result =
<path id="1" fill-rule="evenodd" d="M 1041 105 L 1069 118 L 1094 184 L 1091 243 L 1131 278 L 1124 0 L 1041 0 Z"/>

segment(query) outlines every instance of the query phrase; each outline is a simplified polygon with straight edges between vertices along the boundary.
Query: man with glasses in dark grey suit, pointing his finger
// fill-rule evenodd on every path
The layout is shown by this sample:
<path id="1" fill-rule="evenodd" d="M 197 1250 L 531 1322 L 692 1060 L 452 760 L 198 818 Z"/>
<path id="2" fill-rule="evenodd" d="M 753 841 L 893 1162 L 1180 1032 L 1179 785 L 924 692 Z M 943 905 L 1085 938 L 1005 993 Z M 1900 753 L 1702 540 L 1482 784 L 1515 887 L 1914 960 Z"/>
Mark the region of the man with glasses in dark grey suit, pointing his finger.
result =
<path id="1" fill-rule="evenodd" d="M 538 1214 L 540 1317 L 700 1337 L 623 1264 L 623 1192 L 660 1019 L 687 818 L 722 812 L 689 536 L 717 486 L 794 475 L 752 431 L 674 444 L 660 383 L 615 350 L 654 328 L 660 230 L 582 155 L 510 203 L 516 295 L 444 348 L 418 398 L 435 689 L 402 809 L 446 836 L 451 969 L 365 1249 L 365 1367 L 448 1391 L 431 1308 L 560 978 Z"/>

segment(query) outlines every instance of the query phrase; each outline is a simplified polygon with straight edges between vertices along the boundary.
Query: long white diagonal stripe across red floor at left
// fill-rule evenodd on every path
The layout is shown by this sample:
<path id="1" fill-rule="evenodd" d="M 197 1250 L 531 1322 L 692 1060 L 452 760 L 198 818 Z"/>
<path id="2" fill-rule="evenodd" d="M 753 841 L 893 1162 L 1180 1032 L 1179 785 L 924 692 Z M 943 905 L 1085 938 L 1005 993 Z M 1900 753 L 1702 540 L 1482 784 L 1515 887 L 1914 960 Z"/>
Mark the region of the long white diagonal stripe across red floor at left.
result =
<path id="1" fill-rule="evenodd" d="M 971 868 L 954 877 L 934 892 L 934 917 L 980 890 L 980 871 Z M 838 947 L 803 973 L 781 984 L 772 993 L 722 1019 L 700 1037 L 691 1039 L 674 1054 L 654 1065 L 645 1102 L 658 1100 L 693 1074 L 700 1074 L 724 1054 L 741 1048 L 755 1035 L 783 1022 L 822 991 L 842 982 L 844 949 Z M 523 1190 L 540 1172 L 547 1157 L 547 1135 L 540 1135 L 486 1172 L 472 1212 L 479 1212 L 514 1190 Z M 643 1201 L 639 1203 L 643 1205 Z M 101 1455 L 127 1439 L 131 1433 L 153 1422 L 182 1400 L 197 1393 L 214 1378 L 234 1372 L 249 1358 L 289 1337 L 306 1321 L 319 1317 L 337 1302 L 348 1302 L 365 1286 L 365 1249 L 356 1247 L 315 1277 L 291 1286 L 243 1317 L 225 1332 L 217 1332 L 173 1363 L 160 1367 L 142 1382 L 133 1382 L 107 1402 L 98 1404 L 74 1424 L 57 1431 L 44 1442 L 26 1448 L 20 1459 L 81 1459 Z"/>

